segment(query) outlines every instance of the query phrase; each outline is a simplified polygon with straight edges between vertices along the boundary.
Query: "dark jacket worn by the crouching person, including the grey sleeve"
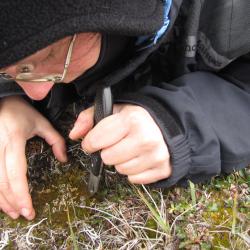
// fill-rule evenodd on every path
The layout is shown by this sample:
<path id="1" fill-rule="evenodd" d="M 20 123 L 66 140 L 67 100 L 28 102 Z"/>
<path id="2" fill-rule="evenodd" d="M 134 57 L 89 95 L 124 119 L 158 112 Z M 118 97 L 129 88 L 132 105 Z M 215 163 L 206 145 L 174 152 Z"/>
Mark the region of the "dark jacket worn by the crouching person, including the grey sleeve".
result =
<path id="1" fill-rule="evenodd" d="M 91 101 L 99 84 L 109 84 L 116 102 L 146 108 L 162 131 L 173 173 L 157 186 L 243 168 L 250 163 L 249 10 L 247 0 L 174 0 L 157 43 L 156 34 L 133 34 L 131 54 L 115 71 L 107 67 L 89 86 L 91 77 L 78 79 L 75 87 L 55 87 L 43 111 L 61 110 L 66 88 Z M 139 49 L 138 40 L 144 41 Z"/>

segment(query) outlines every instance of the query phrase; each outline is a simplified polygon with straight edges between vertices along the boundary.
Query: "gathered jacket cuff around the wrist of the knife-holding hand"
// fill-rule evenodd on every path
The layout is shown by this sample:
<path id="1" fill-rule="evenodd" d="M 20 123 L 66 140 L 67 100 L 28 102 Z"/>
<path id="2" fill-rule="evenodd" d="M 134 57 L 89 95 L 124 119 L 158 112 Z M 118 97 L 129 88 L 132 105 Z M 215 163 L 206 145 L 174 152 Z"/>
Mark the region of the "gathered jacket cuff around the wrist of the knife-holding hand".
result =
<path id="1" fill-rule="evenodd" d="M 162 132 L 170 153 L 172 174 L 169 178 L 151 185 L 158 188 L 166 188 L 175 184 L 185 185 L 191 166 L 191 148 L 173 115 L 161 103 L 140 93 L 122 95 L 115 99 L 115 103 L 130 103 L 145 108 Z"/>

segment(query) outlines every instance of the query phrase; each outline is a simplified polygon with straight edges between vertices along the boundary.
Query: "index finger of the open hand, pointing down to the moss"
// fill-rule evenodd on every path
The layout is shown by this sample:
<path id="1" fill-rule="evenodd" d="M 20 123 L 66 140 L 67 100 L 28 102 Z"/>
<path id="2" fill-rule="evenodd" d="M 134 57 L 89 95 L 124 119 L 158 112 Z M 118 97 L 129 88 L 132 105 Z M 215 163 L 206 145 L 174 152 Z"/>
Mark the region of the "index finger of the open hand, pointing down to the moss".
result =
<path id="1" fill-rule="evenodd" d="M 15 141 L 9 143 L 6 148 L 6 172 L 20 214 L 32 220 L 35 217 L 35 211 L 29 194 L 25 140 L 22 138 L 15 137 Z"/>

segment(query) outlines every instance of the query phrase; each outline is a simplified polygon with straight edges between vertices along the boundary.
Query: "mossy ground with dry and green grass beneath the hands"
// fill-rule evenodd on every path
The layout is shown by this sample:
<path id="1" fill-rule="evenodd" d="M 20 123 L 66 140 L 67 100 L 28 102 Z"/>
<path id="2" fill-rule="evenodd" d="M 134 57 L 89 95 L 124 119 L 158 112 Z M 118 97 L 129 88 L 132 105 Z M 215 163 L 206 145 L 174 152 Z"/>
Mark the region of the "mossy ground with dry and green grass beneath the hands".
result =
<path id="1" fill-rule="evenodd" d="M 62 123 L 67 134 L 70 125 Z M 69 142 L 68 149 L 70 161 L 62 165 L 43 141 L 29 142 L 37 216 L 27 222 L 0 214 L 0 249 L 250 248 L 249 168 L 168 190 L 130 185 L 108 168 L 100 192 L 91 198 L 89 157 L 79 142 Z"/>

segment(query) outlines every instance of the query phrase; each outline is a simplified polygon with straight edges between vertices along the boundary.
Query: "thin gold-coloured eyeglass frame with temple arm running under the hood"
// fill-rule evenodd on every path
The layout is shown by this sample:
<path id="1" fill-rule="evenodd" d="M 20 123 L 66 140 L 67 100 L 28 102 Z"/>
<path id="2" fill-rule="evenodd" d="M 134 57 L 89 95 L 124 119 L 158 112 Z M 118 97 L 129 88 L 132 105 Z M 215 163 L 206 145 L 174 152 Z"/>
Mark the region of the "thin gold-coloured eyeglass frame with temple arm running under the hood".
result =
<path id="1" fill-rule="evenodd" d="M 30 72 L 21 72 L 19 74 L 16 75 L 16 77 L 12 77 L 4 72 L 0 72 L 0 77 L 2 77 L 3 79 L 6 80 L 13 80 L 13 81 L 21 81 L 21 82 L 32 82 L 32 83 L 42 83 L 42 82 L 53 82 L 53 83 L 62 83 L 67 72 L 68 72 L 68 67 L 71 61 L 71 57 L 72 57 L 72 52 L 73 52 L 73 47 L 74 47 L 74 43 L 76 40 L 76 34 L 73 35 L 70 44 L 69 44 L 69 48 L 68 48 L 68 52 L 67 52 L 67 56 L 64 62 L 64 69 L 63 69 L 63 73 L 61 75 L 59 74 L 51 74 L 51 75 L 45 75 L 41 78 L 36 78 L 36 79 L 28 79 L 27 76 L 31 76 L 33 73 Z M 39 73 L 37 74 L 39 75 Z M 25 78 L 26 77 L 26 78 Z"/>

